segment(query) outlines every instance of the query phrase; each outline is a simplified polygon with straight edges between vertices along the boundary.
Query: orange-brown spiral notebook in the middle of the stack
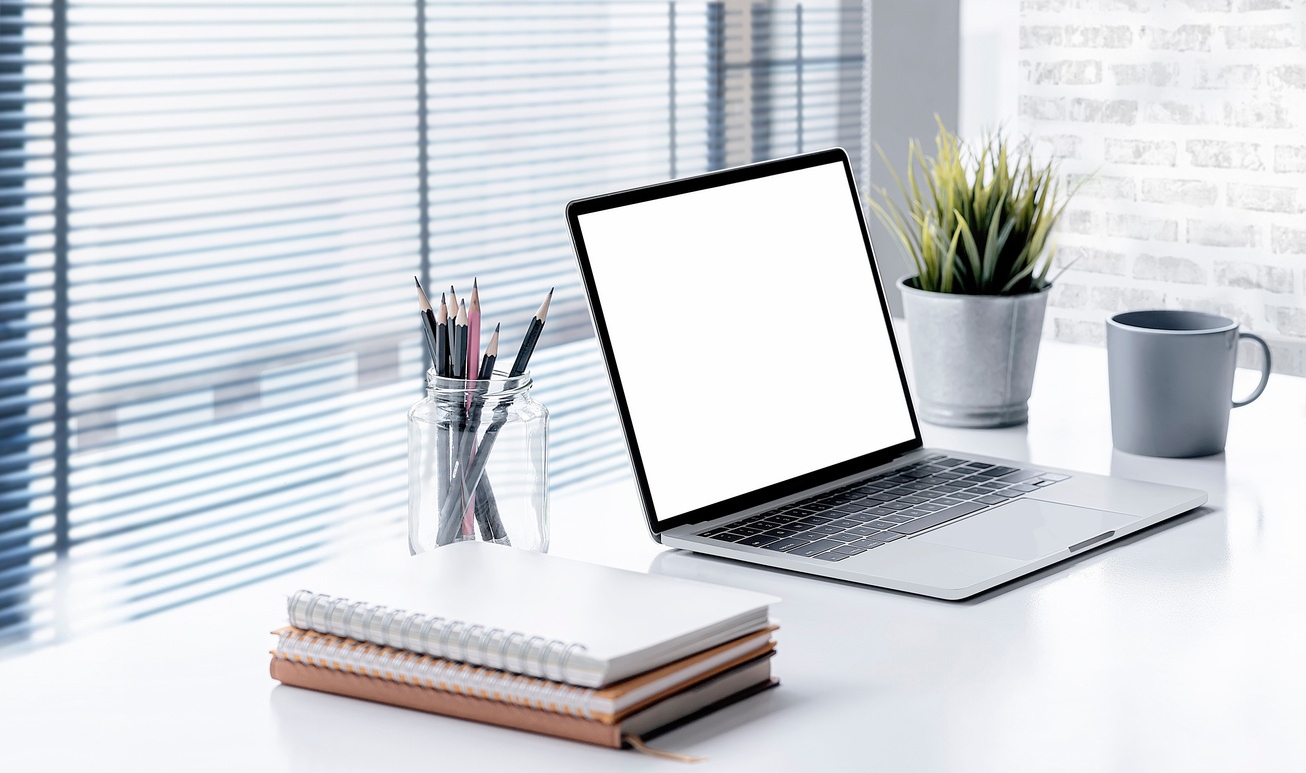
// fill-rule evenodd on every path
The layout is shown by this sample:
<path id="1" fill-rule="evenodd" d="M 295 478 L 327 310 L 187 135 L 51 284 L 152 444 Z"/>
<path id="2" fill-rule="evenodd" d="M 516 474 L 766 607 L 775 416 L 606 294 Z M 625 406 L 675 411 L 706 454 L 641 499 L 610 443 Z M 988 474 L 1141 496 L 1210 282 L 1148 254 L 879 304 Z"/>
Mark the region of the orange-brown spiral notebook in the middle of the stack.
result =
<path id="1" fill-rule="evenodd" d="M 644 708 L 690 684 L 772 652 L 776 644 L 771 640 L 771 635 L 774 631 L 774 627 L 764 628 L 602 689 L 549 682 L 289 627 L 276 632 L 277 646 L 272 655 L 278 661 L 613 725 L 619 716 L 635 708 Z"/>

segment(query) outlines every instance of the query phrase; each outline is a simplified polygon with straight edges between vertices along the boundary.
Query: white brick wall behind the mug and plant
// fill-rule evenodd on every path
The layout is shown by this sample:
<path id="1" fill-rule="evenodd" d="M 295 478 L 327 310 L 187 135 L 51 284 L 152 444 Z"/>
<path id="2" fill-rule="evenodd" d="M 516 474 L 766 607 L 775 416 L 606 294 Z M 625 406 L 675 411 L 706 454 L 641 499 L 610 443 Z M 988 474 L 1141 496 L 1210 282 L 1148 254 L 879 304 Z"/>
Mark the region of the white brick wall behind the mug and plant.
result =
<path id="1" fill-rule="evenodd" d="M 1306 375 L 1306 0 L 1021 0 L 1019 39 L 1019 129 L 1093 175 L 1046 334 L 1203 309 Z"/>

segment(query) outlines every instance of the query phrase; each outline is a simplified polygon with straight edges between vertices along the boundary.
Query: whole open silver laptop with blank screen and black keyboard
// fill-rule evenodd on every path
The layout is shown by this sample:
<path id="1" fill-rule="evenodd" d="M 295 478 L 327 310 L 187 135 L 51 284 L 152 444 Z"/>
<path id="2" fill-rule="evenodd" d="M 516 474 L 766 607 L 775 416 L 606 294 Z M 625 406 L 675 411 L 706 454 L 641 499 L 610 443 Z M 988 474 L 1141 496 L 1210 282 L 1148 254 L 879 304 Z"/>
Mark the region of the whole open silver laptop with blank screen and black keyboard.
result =
<path id="1" fill-rule="evenodd" d="M 925 448 L 846 153 L 567 205 L 653 539 L 961 599 L 1207 501 Z"/>

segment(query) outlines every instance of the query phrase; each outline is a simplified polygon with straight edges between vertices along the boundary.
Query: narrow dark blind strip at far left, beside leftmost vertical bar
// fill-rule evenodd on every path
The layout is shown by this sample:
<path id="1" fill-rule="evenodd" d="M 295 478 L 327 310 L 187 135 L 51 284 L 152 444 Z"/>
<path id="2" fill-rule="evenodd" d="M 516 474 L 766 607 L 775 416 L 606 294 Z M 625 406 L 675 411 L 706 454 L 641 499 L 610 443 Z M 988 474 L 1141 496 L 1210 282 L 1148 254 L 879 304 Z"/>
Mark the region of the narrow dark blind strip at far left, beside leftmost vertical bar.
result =
<path id="1" fill-rule="evenodd" d="M 0 641 L 25 627 L 56 531 L 50 18 L 0 4 Z"/>

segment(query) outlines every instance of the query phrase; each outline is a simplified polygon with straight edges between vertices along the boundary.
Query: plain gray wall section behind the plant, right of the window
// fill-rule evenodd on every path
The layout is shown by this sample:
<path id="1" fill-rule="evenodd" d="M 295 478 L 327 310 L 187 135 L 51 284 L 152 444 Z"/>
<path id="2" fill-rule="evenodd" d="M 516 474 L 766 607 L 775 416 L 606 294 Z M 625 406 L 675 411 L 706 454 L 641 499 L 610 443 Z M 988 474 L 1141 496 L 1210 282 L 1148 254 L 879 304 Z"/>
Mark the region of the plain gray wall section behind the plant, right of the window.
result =
<path id="1" fill-rule="evenodd" d="M 934 148 L 935 114 L 949 131 L 957 131 L 961 9 L 959 0 L 870 0 L 870 8 L 871 184 L 896 195 L 875 145 L 902 174 L 909 140 Z M 893 282 L 916 272 L 874 213 L 867 212 L 867 222 L 889 306 L 901 316 L 902 300 Z"/>

